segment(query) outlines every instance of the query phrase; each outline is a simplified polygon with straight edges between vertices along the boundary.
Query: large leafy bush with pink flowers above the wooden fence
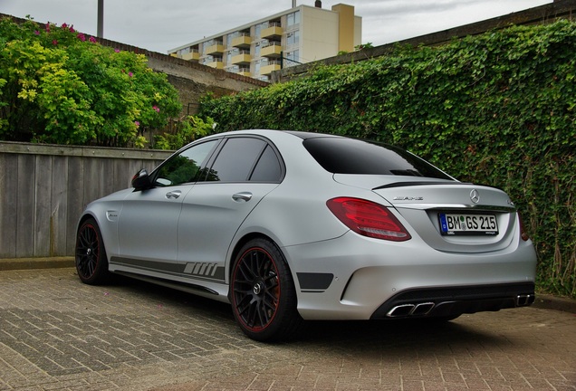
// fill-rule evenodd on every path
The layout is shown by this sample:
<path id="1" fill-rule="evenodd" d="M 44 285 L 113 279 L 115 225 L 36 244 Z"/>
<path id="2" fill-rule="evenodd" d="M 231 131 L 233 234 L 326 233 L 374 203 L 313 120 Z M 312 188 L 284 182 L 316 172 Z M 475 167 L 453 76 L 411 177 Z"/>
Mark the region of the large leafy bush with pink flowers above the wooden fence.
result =
<path id="1" fill-rule="evenodd" d="M 143 147 L 178 115 L 178 92 L 143 55 L 72 26 L 0 20 L 0 139 Z"/>

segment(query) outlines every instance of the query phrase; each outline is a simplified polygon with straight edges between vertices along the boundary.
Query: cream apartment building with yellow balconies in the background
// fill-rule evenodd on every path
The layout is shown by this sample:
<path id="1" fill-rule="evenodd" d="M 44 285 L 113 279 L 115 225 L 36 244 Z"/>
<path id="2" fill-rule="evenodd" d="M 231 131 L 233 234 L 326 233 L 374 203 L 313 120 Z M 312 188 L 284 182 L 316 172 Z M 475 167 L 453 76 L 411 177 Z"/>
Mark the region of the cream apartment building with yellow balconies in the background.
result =
<path id="1" fill-rule="evenodd" d="M 352 52 L 361 43 L 362 19 L 352 5 L 323 9 L 295 5 L 280 14 L 244 24 L 168 54 L 187 61 L 269 81 L 270 74 L 298 63 Z"/>

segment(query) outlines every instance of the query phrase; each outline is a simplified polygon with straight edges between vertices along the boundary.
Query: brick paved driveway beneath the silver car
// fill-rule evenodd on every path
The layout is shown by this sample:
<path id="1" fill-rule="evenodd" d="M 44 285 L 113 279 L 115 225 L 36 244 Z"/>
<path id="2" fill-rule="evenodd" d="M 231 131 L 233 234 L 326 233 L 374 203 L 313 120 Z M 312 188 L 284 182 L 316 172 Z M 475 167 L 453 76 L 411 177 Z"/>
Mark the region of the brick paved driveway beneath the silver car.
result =
<path id="1" fill-rule="evenodd" d="M 312 323 L 246 339 L 224 304 L 72 269 L 0 272 L 0 390 L 576 390 L 576 316 Z"/>

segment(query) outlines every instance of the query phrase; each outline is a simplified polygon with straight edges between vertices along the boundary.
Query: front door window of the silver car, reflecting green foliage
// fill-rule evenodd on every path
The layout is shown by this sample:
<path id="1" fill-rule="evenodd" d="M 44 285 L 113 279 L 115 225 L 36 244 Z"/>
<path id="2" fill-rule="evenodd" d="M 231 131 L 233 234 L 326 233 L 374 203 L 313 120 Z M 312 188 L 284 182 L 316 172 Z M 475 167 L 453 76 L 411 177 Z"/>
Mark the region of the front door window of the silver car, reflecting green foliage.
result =
<path id="1" fill-rule="evenodd" d="M 175 186 L 188 182 L 196 182 L 200 167 L 209 157 L 219 140 L 206 141 L 194 147 L 187 148 L 165 162 L 156 176 L 156 186 Z"/>

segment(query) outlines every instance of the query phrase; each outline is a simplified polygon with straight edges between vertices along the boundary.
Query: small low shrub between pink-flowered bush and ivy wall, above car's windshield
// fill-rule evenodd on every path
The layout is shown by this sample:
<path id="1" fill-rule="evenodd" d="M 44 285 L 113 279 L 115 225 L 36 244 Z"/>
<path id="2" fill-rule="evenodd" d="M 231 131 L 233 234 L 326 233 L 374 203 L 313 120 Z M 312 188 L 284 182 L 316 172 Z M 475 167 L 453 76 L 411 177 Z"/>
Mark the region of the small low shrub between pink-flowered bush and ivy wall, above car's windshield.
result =
<path id="1" fill-rule="evenodd" d="M 195 116 L 188 116 L 178 124 L 174 133 L 165 133 L 156 137 L 155 148 L 158 149 L 179 149 L 194 141 L 214 133 L 216 122 L 207 118 L 206 121 Z"/>

